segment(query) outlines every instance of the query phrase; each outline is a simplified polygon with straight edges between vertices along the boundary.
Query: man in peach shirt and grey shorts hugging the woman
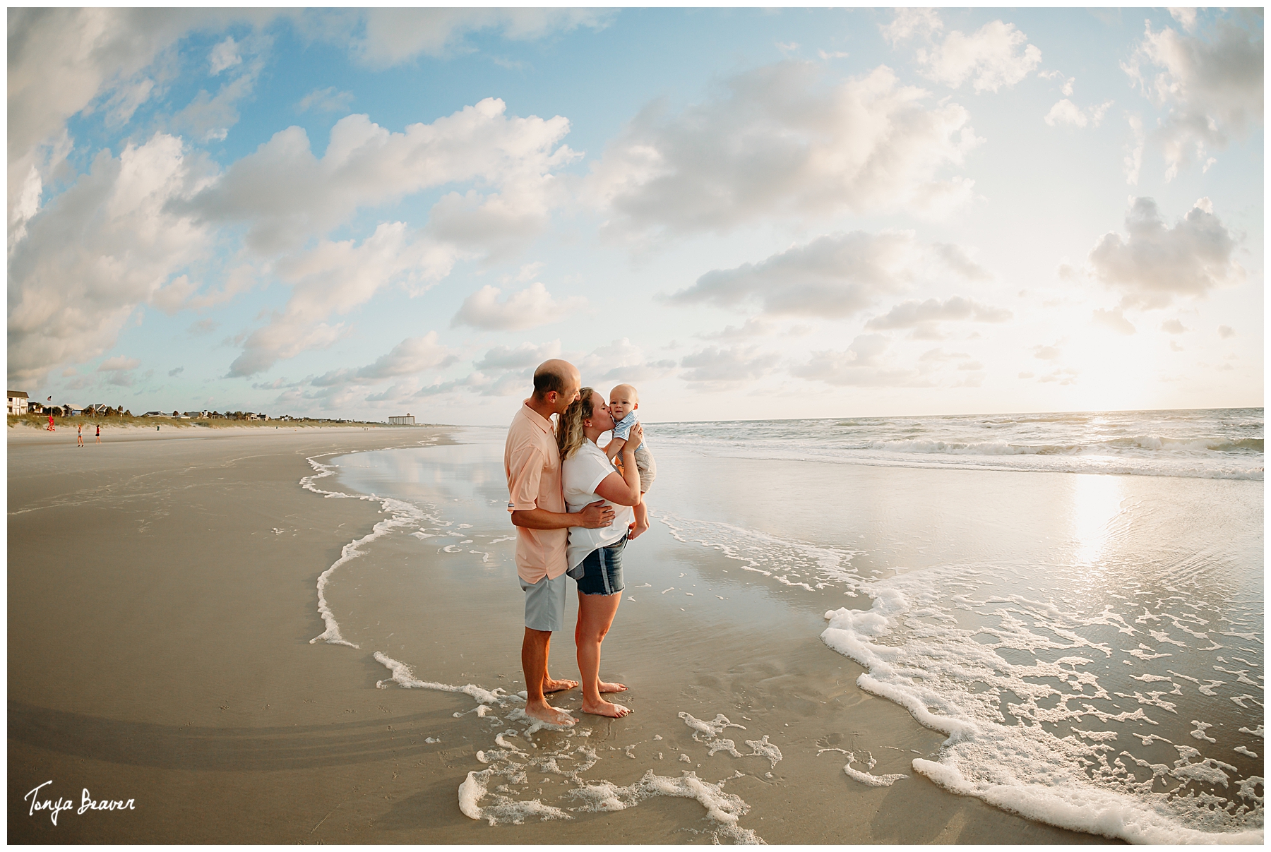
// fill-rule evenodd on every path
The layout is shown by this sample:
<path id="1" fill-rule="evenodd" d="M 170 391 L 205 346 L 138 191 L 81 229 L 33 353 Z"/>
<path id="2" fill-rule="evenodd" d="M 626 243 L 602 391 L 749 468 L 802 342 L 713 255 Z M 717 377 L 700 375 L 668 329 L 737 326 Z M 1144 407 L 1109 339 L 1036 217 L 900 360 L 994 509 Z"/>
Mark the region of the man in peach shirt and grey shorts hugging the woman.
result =
<path id="1" fill-rule="evenodd" d="M 547 702 L 545 692 L 572 689 L 577 681 L 548 676 L 552 631 L 564 627 L 566 543 L 569 527 L 608 527 L 614 509 L 596 500 L 577 514 L 566 512 L 561 486 L 561 452 L 550 416 L 563 414 L 578 399 L 582 378 L 568 361 L 544 361 L 534 371 L 534 395 L 512 418 L 503 449 L 508 503 L 516 526 L 516 574 L 525 592 L 525 712 L 553 725 L 574 719 Z"/>

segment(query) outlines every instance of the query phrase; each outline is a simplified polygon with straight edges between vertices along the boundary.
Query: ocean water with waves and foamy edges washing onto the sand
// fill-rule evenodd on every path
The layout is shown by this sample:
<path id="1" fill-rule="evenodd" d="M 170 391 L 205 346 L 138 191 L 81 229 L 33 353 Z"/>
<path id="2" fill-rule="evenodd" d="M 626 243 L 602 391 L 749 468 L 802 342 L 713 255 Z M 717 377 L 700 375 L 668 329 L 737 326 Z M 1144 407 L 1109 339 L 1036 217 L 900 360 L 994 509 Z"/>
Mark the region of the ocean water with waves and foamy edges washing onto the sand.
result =
<path id="1" fill-rule="evenodd" d="M 896 772 L 873 771 L 872 753 L 816 749 L 841 753 L 850 783 L 924 776 L 1040 823 L 1131 842 L 1262 842 L 1261 409 L 646 432 L 658 460 L 648 503 L 674 546 L 722 556 L 770 589 L 764 606 L 821 607 L 820 641 L 863 667 L 857 686 L 944 738 L 886 767 Z M 507 564 L 502 430 L 465 429 L 460 441 L 313 461 L 309 488 L 374 495 L 388 514 L 319 580 L 327 630 L 314 641 L 348 642 L 325 592 L 381 540 Z M 447 504 L 489 522 L 460 524 Z M 710 602 L 716 618 L 758 617 L 733 603 L 740 596 L 712 590 L 727 594 Z M 728 778 L 663 764 L 628 785 L 585 776 L 604 755 L 582 730 L 540 749 L 515 695 L 433 682 L 425 659 L 375 659 L 385 686 L 460 691 L 478 715 L 497 715 L 482 766 L 456 791 L 474 819 L 567 819 L 681 796 L 702 804 L 716 839 L 763 839 L 744 827 L 750 805 Z M 783 759 L 775 733 L 742 752 L 727 739 L 736 717 L 680 716 L 710 755 L 773 769 Z M 571 792 L 545 801 L 526 767 L 559 775 Z"/>

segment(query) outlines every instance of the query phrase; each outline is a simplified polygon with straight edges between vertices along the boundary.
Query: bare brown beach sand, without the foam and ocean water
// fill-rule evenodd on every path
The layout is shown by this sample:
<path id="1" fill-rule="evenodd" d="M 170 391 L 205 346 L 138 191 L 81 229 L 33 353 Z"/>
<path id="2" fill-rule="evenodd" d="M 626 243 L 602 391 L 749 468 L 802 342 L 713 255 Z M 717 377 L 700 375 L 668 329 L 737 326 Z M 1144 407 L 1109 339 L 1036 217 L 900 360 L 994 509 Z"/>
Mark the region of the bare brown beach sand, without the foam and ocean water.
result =
<path id="1" fill-rule="evenodd" d="M 695 828 L 708 827 L 703 808 L 683 799 L 569 822 L 470 820 L 456 791 L 491 734 L 474 715 L 454 714 L 473 701 L 375 688 L 389 673 L 372 642 L 309 642 L 323 632 L 318 575 L 384 516 L 376 503 L 301 489 L 313 472 L 305 458 L 416 446 L 445 439 L 444 429 L 183 432 L 117 433 L 81 451 L 74 432 L 10 429 L 10 842 L 709 842 Z M 657 526 L 646 545 L 666 570 L 684 570 L 674 562 L 684 549 Z M 512 575 L 419 554 L 390 541 L 350 562 L 329 596 L 346 635 L 374 637 L 379 608 L 414 607 L 417 630 L 400 654 L 427 662 L 419 677 L 521 688 Z M 364 585 L 371 599 L 360 602 Z M 394 588 L 397 599 L 375 599 Z M 769 843 L 1102 842 L 921 777 L 863 787 L 845 778 L 840 754 L 816 757 L 817 747 L 872 745 L 876 772 L 902 771 L 877 744 L 927 754 L 941 742 L 858 689 L 859 667 L 820 644 L 817 621 L 797 634 L 765 632 L 761 620 L 699 630 L 624 602 L 604 672 L 638 687 L 624 698 L 636 714 L 583 722 L 606 755 L 604 777 L 634 781 L 653 749 L 667 757 L 658 771 L 676 776 L 685 767 L 670 758 L 699 744 L 675 712 L 709 706 L 747 716 L 746 738 L 768 733 L 782 744 L 773 778 L 747 764 L 727 787 L 751 806 L 742 824 Z M 569 676 L 572 655 L 572 637 L 559 636 L 553 673 Z M 577 692 L 558 702 L 576 707 Z M 633 743 L 646 759 L 623 761 Z M 733 768 L 723 753 L 694 758 L 704 766 L 689 768 L 707 780 Z M 41 797 L 75 802 L 56 825 L 22 799 L 50 780 Z M 76 814 L 85 787 L 135 809 Z"/>

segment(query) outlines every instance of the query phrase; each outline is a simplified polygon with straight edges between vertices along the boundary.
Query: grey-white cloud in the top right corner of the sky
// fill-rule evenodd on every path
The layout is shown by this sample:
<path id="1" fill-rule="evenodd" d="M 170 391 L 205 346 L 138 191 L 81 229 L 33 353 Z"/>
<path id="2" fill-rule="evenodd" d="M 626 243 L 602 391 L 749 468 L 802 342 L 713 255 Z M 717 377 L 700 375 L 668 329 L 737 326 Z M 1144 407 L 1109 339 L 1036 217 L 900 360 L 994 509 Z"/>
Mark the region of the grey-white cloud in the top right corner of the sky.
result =
<path id="1" fill-rule="evenodd" d="M 1154 133 L 1167 180 L 1193 160 L 1204 161 L 1206 147 L 1224 147 L 1229 135 L 1262 127 L 1261 10 L 1235 10 L 1215 22 L 1207 38 L 1169 27 L 1154 33 L 1148 22 L 1121 67 L 1154 103 L 1169 107 Z M 1152 76 L 1152 69 L 1160 70 Z"/>

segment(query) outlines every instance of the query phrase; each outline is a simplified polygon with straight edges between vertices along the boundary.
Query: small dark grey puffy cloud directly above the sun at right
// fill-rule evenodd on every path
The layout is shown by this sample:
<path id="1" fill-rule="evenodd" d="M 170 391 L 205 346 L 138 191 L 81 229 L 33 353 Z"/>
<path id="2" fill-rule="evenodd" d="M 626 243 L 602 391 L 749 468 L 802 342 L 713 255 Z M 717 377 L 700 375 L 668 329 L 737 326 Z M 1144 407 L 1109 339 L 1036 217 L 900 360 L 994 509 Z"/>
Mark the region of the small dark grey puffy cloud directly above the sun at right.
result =
<path id="1" fill-rule="evenodd" d="M 1126 236 L 1104 234 L 1089 254 L 1099 279 L 1124 293 L 1124 306 L 1164 307 L 1176 296 L 1204 296 L 1244 277 L 1232 258 L 1235 237 L 1209 198 L 1197 201 L 1173 227 L 1153 199 L 1135 198 L 1125 227 Z"/>

